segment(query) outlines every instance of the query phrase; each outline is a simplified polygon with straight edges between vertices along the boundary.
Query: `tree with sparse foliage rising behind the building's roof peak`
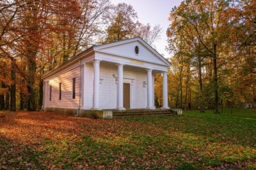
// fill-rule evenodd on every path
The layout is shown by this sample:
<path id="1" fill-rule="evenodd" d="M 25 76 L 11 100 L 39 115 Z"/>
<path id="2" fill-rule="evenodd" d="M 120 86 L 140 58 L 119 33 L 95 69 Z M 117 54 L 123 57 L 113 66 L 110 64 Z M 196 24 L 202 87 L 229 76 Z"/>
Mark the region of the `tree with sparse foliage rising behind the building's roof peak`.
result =
<path id="1" fill-rule="evenodd" d="M 149 23 L 144 25 L 136 21 L 137 12 L 126 3 L 112 6 L 106 18 L 106 35 L 105 38 L 102 37 L 100 44 L 139 36 L 154 47 L 154 42 L 160 39 L 162 32 L 160 25 L 155 25 L 152 28 Z"/>

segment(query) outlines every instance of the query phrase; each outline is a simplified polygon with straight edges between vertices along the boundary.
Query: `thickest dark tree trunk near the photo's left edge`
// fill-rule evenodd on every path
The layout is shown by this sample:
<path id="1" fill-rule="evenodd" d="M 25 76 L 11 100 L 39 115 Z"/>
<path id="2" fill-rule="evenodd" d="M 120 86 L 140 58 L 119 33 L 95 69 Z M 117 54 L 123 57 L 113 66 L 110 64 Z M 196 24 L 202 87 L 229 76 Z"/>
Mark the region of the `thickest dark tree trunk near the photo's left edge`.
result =
<path id="1" fill-rule="evenodd" d="M 15 61 L 11 62 L 11 108 L 10 111 L 16 111 L 16 76 L 15 76 Z"/>

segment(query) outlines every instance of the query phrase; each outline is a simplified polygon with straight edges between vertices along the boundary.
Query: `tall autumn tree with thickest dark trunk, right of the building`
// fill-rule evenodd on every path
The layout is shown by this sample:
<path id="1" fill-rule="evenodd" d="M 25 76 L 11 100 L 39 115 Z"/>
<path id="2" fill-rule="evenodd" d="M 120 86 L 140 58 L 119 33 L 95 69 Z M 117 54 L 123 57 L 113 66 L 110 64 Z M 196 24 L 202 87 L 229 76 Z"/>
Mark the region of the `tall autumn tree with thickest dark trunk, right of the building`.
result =
<path id="1" fill-rule="evenodd" d="M 231 1 L 183 1 L 170 14 L 169 36 L 181 29 L 191 41 L 197 41 L 204 54 L 196 55 L 212 58 L 213 86 L 215 91 L 215 113 L 219 113 L 218 67 L 225 52 L 232 23 L 229 22 L 228 9 Z M 175 18 L 177 17 L 177 18 Z M 193 40 L 192 38 L 195 39 Z M 202 57 L 200 57 L 202 59 Z M 199 61 L 201 61 L 201 59 Z M 200 63 L 200 62 L 199 62 Z M 218 66 L 219 63 L 219 66 Z M 199 69 L 200 71 L 200 69 Z"/>

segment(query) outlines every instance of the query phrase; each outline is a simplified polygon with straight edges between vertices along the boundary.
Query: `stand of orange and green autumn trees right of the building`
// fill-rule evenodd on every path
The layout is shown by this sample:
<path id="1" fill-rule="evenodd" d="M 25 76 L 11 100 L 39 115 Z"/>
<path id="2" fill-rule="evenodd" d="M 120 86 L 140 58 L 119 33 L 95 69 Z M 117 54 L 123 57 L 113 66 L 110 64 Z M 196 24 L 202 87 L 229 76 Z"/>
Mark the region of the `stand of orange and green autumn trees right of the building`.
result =
<path id="1" fill-rule="evenodd" d="M 174 78 L 170 82 L 175 82 L 176 75 L 179 77 L 180 86 L 171 91 L 181 93 L 175 97 L 180 105 L 183 103 L 182 83 L 189 80 L 194 84 L 196 79 L 198 83 L 191 87 L 192 100 L 195 97 L 194 107 L 199 105 L 202 112 L 205 106 L 212 108 L 214 105 L 214 112 L 219 113 L 218 105 L 223 106 L 224 100 L 226 105 L 233 105 L 235 97 L 236 105 L 238 100 L 240 105 L 246 101 L 255 102 L 245 99 L 249 96 L 255 99 L 255 59 L 251 58 L 255 56 L 252 53 L 255 48 L 254 5 L 252 1 L 183 1 L 170 12 L 167 36 L 169 50 L 174 53 L 171 69 Z M 184 57 L 191 62 L 184 62 Z M 192 71 L 191 79 L 183 80 L 186 64 L 190 70 L 197 71 Z"/>

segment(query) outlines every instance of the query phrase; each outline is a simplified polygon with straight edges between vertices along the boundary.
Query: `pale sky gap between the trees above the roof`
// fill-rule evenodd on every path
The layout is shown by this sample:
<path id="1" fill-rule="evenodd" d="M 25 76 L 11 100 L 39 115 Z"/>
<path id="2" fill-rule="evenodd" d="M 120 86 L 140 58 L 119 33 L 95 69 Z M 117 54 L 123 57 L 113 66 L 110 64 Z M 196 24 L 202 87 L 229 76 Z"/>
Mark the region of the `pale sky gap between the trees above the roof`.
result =
<path id="1" fill-rule="evenodd" d="M 171 57 L 165 50 L 167 46 L 166 30 L 169 26 L 169 14 L 171 8 L 178 6 L 182 0 L 111 0 L 115 5 L 117 3 L 127 3 L 132 5 L 137 12 L 139 22 L 149 23 L 152 27 L 160 24 L 162 27 L 161 39 L 155 42 L 157 52 L 163 54 L 164 57 Z"/>

